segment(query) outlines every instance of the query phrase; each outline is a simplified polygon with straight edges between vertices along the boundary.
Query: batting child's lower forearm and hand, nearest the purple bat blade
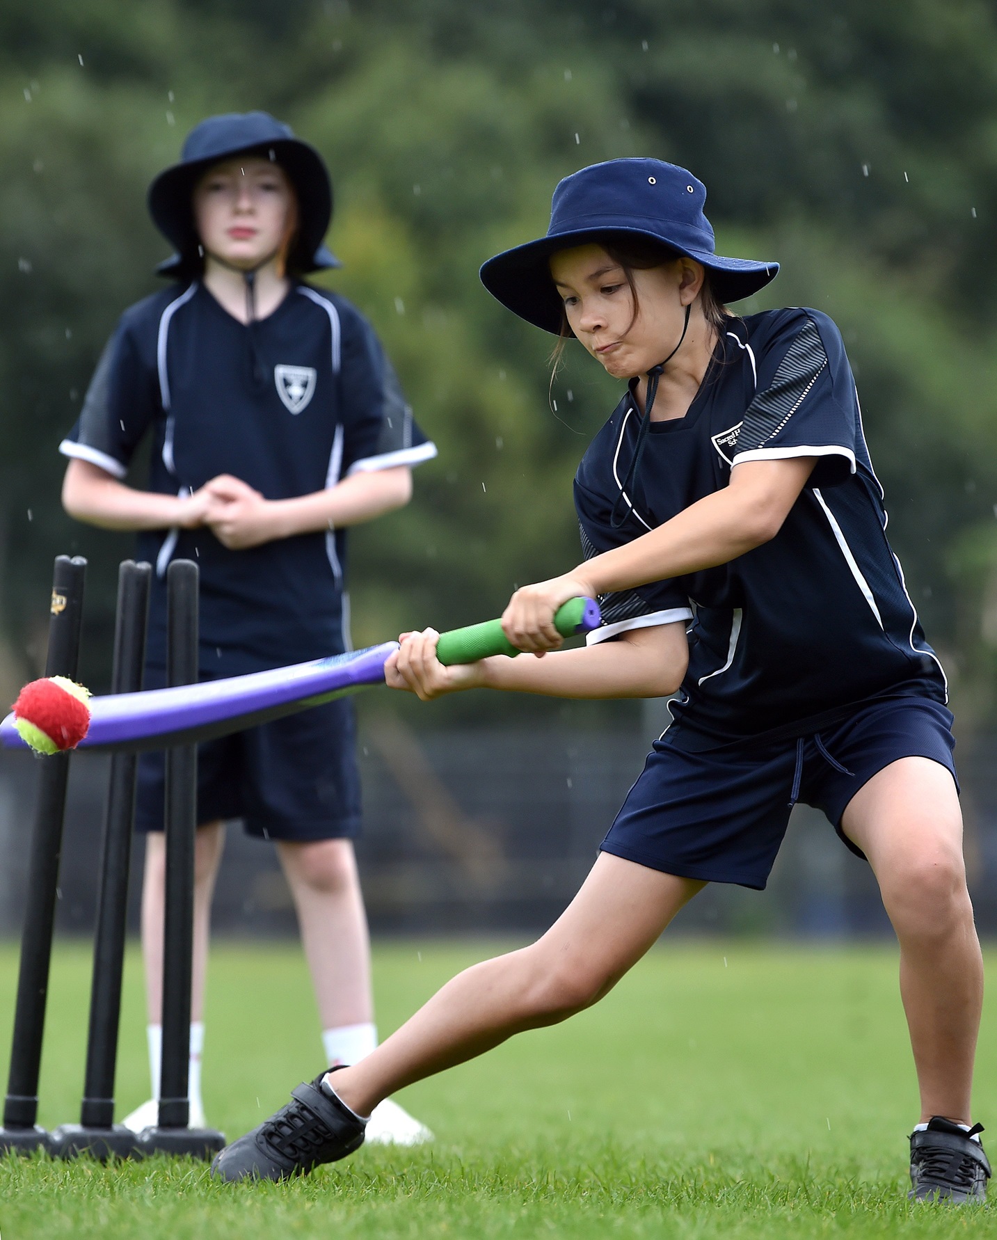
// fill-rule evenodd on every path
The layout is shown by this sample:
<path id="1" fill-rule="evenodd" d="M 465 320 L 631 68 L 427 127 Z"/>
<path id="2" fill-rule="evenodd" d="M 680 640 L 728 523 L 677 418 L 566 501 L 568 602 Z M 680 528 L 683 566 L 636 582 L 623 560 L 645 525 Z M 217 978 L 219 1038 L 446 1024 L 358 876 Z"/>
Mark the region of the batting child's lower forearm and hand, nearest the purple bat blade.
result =
<path id="1" fill-rule="evenodd" d="M 685 624 L 631 629 L 609 641 L 546 657 L 496 655 L 477 663 L 444 667 L 436 658 L 434 629 L 402 635 L 384 665 L 391 688 L 409 689 L 423 702 L 459 689 L 512 689 L 567 698 L 667 697 L 688 665 Z"/>

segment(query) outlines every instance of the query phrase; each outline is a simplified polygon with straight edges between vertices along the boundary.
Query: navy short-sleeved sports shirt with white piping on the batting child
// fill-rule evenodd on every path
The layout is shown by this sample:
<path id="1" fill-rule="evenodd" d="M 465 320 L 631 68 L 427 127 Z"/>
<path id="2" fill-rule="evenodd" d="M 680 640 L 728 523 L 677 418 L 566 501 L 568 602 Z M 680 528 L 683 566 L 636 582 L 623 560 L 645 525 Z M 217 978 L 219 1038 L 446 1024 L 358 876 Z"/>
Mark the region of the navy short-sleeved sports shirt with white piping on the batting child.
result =
<path id="1" fill-rule="evenodd" d="M 946 702 L 946 682 L 887 542 L 844 346 L 817 310 L 770 310 L 725 325 L 683 418 L 652 422 L 632 494 L 620 485 L 640 410 L 620 401 L 574 484 L 585 557 L 668 521 L 727 486 L 734 465 L 816 456 L 770 542 L 728 564 L 601 598 L 601 641 L 692 621 L 675 740 L 707 749 L 805 735 L 871 698 Z M 613 528 L 626 512 L 623 525 Z"/>

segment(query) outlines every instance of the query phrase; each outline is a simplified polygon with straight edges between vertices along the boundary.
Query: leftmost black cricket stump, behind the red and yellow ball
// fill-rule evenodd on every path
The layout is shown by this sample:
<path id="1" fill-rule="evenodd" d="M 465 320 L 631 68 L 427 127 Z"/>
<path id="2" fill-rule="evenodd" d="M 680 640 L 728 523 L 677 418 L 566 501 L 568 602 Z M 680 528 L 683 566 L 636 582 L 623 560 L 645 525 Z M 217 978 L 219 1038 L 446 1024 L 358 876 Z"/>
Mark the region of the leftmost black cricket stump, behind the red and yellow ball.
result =
<path id="1" fill-rule="evenodd" d="M 83 619 L 83 582 L 87 562 L 82 556 L 57 556 L 52 577 L 46 676 L 77 677 L 79 630 Z M 52 959 L 52 930 L 56 920 L 58 863 L 66 815 L 66 785 L 69 754 L 52 754 L 38 760 L 38 800 L 31 827 L 31 852 L 17 999 L 14 1009 L 14 1038 L 10 1075 L 0 1128 L 0 1153 L 30 1153 L 48 1148 L 48 1133 L 38 1117 L 38 1071 L 41 1068 L 45 1008 L 48 997 L 48 966 Z"/>

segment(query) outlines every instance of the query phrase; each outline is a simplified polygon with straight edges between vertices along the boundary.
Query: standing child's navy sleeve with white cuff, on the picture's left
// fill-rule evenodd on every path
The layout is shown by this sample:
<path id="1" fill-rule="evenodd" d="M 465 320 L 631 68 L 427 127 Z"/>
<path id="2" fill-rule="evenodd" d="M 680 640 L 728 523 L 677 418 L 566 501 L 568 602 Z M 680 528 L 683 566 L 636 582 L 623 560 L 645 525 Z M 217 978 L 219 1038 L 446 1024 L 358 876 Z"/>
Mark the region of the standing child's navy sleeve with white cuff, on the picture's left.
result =
<path id="1" fill-rule="evenodd" d="M 119 324 L 97 363 L 79 418 L 60 444 L 60 451 L 89 461 L 113 477 L 124 477 L 157 412 L 154 377 L 143 365 L 130 331 Z"/>

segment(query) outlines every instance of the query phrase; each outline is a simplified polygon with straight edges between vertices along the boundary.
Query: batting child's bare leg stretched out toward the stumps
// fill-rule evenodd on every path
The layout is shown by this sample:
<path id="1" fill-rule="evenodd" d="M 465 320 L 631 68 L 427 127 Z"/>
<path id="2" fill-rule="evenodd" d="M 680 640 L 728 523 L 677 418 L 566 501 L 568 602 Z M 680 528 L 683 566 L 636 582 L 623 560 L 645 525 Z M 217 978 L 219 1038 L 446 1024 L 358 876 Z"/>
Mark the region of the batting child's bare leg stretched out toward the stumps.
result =
<path id="1" fill-rule="evenodd" d="M 600 853 L 578 895 L 530 947 L 459 973 L 358 1064 L 330 1078 L 358 1115 L 389 1094 L 564 1021 L 606 994 L 704 883 Z"/>

